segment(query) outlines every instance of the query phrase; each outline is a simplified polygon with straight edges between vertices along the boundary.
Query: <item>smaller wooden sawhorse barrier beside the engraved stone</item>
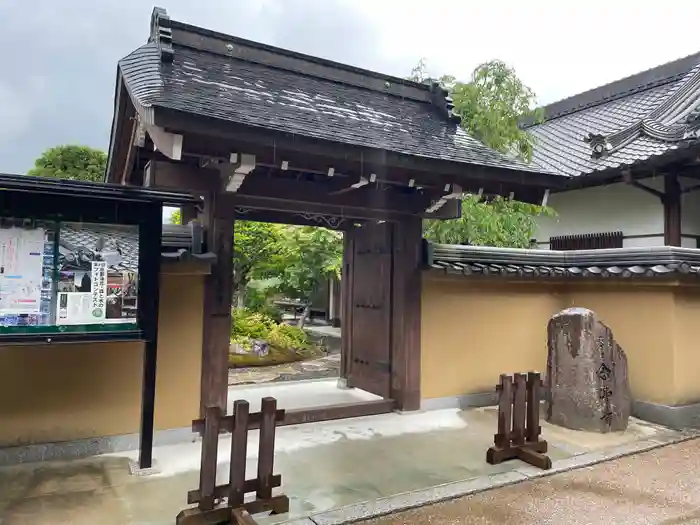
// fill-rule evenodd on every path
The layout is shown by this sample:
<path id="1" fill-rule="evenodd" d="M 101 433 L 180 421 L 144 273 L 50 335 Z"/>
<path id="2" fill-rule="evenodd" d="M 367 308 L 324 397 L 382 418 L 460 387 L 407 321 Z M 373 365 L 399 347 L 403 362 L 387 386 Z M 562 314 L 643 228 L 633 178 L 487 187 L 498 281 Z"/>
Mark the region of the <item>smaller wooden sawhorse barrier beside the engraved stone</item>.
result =
<path id="1" fill-rule="evenodd" d="M 547 442 L 540 439 L 540 388 L 537 372 L 501 374 L 498 392 L 498 433 L 494 445 L 486 452 L 486 461 L 496 465 L 509 459 L 520 459 L 541 469 L 552 468 L 546 456 Z"/>

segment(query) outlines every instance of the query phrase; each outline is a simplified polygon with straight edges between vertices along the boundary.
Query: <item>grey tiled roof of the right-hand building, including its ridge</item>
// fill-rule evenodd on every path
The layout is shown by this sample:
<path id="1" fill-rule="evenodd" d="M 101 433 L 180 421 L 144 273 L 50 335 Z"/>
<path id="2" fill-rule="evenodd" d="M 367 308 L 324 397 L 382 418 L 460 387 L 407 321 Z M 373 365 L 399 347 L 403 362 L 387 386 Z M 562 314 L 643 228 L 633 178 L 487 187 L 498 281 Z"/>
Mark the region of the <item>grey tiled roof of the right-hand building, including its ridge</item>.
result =
<path id="1" fill-rule="evenodd" d="M 533 164 L 569 176 L 619 170 L 700 145 L 700 54 L 544 108 L 524 123 Z"/>

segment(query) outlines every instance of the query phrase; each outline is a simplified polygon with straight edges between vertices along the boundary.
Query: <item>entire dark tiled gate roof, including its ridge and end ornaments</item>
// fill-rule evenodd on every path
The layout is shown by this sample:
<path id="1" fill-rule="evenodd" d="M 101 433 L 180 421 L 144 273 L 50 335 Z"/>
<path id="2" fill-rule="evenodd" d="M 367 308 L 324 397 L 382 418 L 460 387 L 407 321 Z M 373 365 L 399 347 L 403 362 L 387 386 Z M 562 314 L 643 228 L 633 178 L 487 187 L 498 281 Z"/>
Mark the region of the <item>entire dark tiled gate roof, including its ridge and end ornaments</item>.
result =
<path id="1" fill-rule="evenodd" d="M 545 172 L 467 134 L 435 86 L 170 21 L 119 62 L 137 108 L 166 108 L 312 139 L 507 170 Z M 329 73 L 330 72 L 330 73 Z"/>

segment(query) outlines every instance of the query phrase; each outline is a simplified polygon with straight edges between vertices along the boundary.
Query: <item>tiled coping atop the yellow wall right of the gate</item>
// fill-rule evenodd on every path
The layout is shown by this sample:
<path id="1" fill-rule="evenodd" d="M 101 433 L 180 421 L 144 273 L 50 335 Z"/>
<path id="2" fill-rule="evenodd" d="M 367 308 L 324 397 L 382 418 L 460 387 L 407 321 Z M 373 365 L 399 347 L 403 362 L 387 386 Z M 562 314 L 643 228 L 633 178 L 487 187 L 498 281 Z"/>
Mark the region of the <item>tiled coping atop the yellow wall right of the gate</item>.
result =
<path id="1" fill-rule="evenodd" d="M 429 244 L 426 267 L 465 276 L 632 278 L 700 276 L 700 250 L 655 246 L 608 250 L 529 250 Z"/>

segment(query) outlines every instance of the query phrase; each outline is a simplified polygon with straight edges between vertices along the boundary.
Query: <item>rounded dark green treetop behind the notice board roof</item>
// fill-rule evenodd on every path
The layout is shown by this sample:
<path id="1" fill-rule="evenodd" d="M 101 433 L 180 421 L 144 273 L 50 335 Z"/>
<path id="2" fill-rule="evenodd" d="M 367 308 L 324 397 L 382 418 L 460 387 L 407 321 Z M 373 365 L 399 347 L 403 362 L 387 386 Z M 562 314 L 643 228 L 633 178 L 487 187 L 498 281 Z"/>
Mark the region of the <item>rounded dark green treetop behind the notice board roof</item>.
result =
<path id="1" fill-rule="evenodd" d="M 102 182 L 106 168 L 107 154 L 104 151 L 67 144 L 44 151 L 27 175 Z"/>

